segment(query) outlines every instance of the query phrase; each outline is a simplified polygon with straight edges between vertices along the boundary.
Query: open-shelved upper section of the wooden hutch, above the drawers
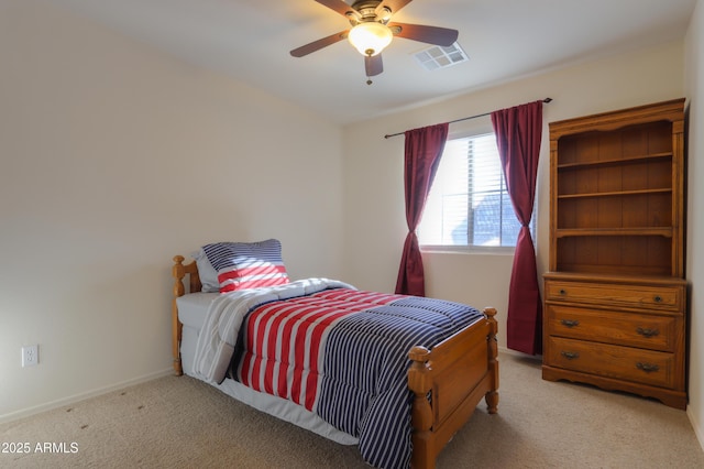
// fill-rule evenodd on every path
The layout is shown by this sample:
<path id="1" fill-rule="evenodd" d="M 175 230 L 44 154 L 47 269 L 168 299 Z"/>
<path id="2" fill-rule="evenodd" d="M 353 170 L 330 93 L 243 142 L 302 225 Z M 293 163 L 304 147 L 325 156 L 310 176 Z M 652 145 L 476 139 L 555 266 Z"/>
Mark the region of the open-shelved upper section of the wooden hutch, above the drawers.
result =
<path id="1" fill-rule="evenodd" d="M 550 271 L 682 277 L 683 109 L 550 123 Z"/>

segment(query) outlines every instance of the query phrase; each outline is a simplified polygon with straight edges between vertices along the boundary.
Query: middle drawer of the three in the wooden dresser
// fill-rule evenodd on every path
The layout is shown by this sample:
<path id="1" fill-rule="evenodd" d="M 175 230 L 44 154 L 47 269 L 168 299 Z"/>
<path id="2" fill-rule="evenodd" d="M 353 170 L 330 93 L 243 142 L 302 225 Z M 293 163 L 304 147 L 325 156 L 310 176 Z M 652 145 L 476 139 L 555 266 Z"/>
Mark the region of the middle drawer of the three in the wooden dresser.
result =
<path id="1" fill-rule="evenodd" d="M 636 314 L 548 304 L 548 335 L 674 352 L 680 319 L 675 316 Z"/>

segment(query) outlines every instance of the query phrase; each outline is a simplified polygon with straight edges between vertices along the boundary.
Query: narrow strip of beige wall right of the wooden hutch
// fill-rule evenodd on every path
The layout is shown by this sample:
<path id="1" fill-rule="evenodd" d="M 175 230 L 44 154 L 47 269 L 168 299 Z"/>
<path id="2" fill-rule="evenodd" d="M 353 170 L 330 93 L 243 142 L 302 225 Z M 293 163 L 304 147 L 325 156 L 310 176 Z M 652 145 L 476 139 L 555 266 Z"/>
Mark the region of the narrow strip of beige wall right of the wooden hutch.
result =
<path id="1" fill-rule="evenodd" d="M 698 0 L 686 36 L 689 98 L 688 255 L 690 281 L 690 406 L 688 415 L 704 447 L 704 0 Z"/>

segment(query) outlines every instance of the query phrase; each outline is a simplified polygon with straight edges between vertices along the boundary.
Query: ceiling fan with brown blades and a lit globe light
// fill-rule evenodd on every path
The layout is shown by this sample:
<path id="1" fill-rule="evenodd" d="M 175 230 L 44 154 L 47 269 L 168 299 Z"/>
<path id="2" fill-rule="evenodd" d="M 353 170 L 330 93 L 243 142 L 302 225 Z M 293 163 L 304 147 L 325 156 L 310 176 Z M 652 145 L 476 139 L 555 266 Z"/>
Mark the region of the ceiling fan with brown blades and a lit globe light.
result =
<path id="1" fill-rule="evenodd" d="M 295 48 L 290 55 L 302 57 L 346 39 L 364 55 L 367 85 L 372 84 L 369 77 L 384 72 L 382 51 L 394 36 L 446 47 L 458 40 L 457 30 L 391 22 L 392 17 L 411 0 L 358 0 L 352 4 L 342 0 L 315 1 L 345 17 L 352 28 Z"/>

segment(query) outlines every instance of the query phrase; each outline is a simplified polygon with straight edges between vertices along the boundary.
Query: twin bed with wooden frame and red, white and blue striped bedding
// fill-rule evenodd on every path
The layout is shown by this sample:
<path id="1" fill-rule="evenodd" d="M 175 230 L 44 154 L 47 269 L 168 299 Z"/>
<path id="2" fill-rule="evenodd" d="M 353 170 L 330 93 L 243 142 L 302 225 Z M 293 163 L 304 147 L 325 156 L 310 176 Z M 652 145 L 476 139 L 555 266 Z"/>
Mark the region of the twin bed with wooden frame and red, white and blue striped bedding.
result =
<path id="1" fill-rule="evenodd" d="M 174 258 L 174 371 L 343 445 L 375 467 L 435 467 L 498 404 L 496 312 L 290 282 L 276 240 Z"/>

